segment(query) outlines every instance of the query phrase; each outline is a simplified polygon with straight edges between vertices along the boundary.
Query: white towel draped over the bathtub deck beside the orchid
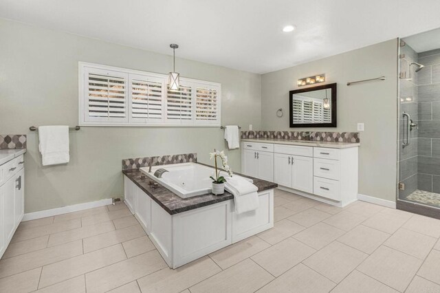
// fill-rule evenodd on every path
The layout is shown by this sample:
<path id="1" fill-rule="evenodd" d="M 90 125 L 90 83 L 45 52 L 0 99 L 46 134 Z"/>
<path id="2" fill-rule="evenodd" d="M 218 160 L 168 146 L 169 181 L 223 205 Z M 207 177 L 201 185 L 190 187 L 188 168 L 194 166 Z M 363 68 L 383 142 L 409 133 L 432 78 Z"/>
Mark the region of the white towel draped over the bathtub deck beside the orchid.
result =
<path id="1" fill-rule="evenodd" d="M 225 189 L 234 195 L 234 206 L 237 214 L 256 210 L 259 207 L 258 188 L 240 177 L 229 177 Z"/>

